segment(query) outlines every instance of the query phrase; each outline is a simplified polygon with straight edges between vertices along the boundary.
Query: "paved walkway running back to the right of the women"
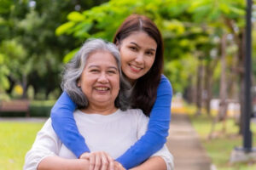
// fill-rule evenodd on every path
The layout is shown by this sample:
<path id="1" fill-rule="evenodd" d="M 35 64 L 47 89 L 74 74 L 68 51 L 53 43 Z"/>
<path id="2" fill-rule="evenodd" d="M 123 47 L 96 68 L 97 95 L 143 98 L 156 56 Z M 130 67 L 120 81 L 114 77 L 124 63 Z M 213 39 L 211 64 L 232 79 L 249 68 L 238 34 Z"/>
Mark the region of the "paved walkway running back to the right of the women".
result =
<path id="1" fill-rule="evenodd" d="M 167 147 L 174 157 L 175 170 L 211 169 L 211 160 L 202 148 L 188 116 L 172 114 Z"/>

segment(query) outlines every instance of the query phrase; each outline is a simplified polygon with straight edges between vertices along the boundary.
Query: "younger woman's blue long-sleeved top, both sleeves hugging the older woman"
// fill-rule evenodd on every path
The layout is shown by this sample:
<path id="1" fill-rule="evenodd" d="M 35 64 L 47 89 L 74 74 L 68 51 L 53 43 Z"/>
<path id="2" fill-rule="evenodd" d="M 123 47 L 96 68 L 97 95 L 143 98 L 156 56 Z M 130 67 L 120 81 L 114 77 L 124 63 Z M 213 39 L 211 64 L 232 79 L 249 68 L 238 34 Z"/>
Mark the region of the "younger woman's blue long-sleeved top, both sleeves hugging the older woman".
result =
<path id="1" fill-rule="evenodd" d="M 147 132 L 116 160 L 123 167 L 126 169 L 136 167 L 147 160 L 154 152 L 160 150 L 166 143 L 171 121 L 171 102 L 172 86 L 168 79 L 162 75 L 157 88 L 157 97 L 150 112 Z M 72 99 L 66 92 L 63 92 L 52 108 L 50 117 L 55 133 L 57 133 L 62 143 L 79 157 L 84 152 L 90 152 L 90 150 L 74 121 L 73 111 L 75 109 L 76 105 Z"/>

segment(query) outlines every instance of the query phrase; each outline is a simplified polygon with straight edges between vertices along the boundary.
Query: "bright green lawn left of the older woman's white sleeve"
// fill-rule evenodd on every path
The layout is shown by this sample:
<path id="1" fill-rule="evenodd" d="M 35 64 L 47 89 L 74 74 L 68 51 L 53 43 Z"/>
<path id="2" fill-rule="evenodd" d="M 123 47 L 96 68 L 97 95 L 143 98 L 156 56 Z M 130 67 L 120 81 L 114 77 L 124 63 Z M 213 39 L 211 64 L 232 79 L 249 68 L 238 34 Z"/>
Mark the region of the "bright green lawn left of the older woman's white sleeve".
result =
<path id="1" fill-rule="evenodd" d="M 1 170 L 22 169 L 26 152 L 44 123 L 0 122 Z"/>

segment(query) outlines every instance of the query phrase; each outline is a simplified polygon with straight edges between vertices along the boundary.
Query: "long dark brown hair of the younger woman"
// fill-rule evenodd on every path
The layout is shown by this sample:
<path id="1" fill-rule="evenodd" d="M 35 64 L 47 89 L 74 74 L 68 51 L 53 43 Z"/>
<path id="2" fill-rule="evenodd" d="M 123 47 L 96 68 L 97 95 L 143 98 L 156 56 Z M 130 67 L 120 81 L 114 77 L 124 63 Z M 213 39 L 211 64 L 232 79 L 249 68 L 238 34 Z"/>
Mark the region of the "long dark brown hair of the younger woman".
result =
<path id="1" fill-rule="evenodd" d="M 116 31 L 113 42 L 122 42 L 125 37 L 129 37 L 134 31 L 144 31 L 157 43 L 154 64 L 150 70 L 137 79 L 136 85 L 131 94 L 131 107 L 140 108 L 144 114 L 149 116 L 157 95 L 157 87 L 164 65 L 163 40 L 159 29 L 148 17 L 139 14 L 131 14 Z"/>

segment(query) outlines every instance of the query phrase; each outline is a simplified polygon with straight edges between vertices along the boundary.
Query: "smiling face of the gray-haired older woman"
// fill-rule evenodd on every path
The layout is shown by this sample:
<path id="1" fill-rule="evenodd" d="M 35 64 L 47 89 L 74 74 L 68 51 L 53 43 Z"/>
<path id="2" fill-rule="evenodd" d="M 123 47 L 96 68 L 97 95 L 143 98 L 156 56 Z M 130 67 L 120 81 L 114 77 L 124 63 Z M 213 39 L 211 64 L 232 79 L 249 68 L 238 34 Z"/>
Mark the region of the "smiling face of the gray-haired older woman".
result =
<path id="1" fill-rule="evenodd" d="M 87 58 L 78 82 L 90 105 L 114 105 L 119 94 L 119 69 L 113 55 L 99 51 Z"/>

